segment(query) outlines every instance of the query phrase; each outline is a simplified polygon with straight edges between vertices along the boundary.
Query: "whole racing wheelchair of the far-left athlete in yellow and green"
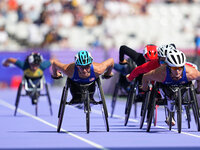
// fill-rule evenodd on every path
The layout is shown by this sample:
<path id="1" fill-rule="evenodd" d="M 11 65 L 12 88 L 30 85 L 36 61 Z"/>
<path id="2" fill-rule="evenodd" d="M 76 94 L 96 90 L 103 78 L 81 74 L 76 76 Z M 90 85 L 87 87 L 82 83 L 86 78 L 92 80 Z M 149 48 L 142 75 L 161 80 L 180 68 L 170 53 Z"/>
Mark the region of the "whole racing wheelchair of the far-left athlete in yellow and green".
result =
<path id="1" fill-rule="evenodd" d="M 43 90 L 45 87 L 45 91 Z M 24 91 L 23 91 L 24 89 Z M 50 108 L 50 114 L 53 115 L 52 103 L 49 95 L 48 84 L 44 76 L 37 78 L 28 78 L 23 76 L 22 81 L 17 90 L 17 97 L 15 101 L 14 116 L 17 114 L 19 101 L 21 96 L 29 96 L 32 99 L 32 104 L 35 105 L 35 115 L 38 115 L 38 99 L 40 96 L 47 96 L 48 104 Z"/>

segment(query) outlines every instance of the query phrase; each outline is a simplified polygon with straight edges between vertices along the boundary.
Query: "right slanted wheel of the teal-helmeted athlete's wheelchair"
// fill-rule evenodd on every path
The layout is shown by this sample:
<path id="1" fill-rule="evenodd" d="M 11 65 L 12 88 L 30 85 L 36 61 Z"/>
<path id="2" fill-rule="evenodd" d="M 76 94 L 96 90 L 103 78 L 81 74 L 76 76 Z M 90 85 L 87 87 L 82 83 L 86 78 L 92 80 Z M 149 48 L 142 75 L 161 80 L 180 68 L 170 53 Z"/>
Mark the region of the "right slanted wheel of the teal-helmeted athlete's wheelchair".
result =
<path id="1" fill-rule="evenodd" d="M 105 96 L 104 96 L 103 88 L 100 83 L 100 79 L 97 79 L 97 84 L 98 84 L 98 89 L 99 89 L 99 94 L 100 94 L 99 96 L 102 100 L 102 115 L 103 115 L 104 123 L 106 126 L 106 131 L 109 132 L 110 129 L 109 129 L 109 124 L 108 124 L 108 111 L 107 111 Z"/>

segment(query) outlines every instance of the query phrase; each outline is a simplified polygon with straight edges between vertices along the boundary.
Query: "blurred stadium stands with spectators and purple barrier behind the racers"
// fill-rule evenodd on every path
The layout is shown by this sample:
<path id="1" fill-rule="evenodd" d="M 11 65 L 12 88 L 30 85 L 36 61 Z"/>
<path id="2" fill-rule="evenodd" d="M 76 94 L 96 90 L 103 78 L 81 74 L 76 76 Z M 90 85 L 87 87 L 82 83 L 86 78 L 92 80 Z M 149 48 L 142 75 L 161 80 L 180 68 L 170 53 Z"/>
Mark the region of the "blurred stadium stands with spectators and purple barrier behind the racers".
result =
<path id="1" fill-rule="evenodd" d="M 199 8 L 200 0 L 0 0 L 0 61 L 38 51 L 69 63 L 88 50 L 96 62 L 118 63 L 121 45 L 142 52 L 149 43 L 175 43 L 198 65 Z M 22 71 L 0 70 L 0 88 L 16 87 Z M 45 74 L 52 85 L 64 83 Z"/>

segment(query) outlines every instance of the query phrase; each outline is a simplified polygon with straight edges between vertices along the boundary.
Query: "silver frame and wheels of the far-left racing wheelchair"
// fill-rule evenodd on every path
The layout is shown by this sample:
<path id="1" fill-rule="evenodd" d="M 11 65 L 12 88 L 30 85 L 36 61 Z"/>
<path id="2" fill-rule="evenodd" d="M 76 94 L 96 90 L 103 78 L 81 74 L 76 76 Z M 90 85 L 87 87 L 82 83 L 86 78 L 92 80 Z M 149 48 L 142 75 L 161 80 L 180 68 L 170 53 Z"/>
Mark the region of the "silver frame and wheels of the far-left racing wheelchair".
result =
<path id="1" fill-rule="evenodd" d="M 32 88 L 28 87 L 28 82 L 30 83 Z M 34 104 L 35 105 L 35 115 L 36 116 L 38 115 L 38 98 L 40 96 L 47 96 L 48 103 L 49 103 L 49 108 L 50 108 L 50 114 L 51 114 L 51 116 L 53 115 L 52 103 L 51 103 L 51 98 L 50 98 L 50 95 L 49 95 L 48 84 L 46 83 L 46 80 L 45 80 L 44 76 L 41 77 L 39 83 L 40 83 L 40 87 L 38 88 L 37 85 L 35 85 L 32 82 L 31 79 L 27 79 L 25 76 L 23 76 L 22 82 L 20 83 L 20 85 L 18 87 L 18 90 L 17 90 L 17 97 L 16 97 L 16 101 L 15 101 L 14 116 L 16 116 L 16 114 L 17 114 L 17 109 L 18 109 L 18 106 L 19 106 L 20 97 L 21 96 L 30 96 L 31 97 L 30 93 L 32 93 L 32 92 L 36 93 L 36 95 L 37 95 L 37 102 Z M 43 86 L 45 86 L 45 91 L 46 92 L 44 94 L 41 94 L 40 92 L 43 90 Z M 24 88 L 25 94 L 21 94 L 22 88 Z"/>

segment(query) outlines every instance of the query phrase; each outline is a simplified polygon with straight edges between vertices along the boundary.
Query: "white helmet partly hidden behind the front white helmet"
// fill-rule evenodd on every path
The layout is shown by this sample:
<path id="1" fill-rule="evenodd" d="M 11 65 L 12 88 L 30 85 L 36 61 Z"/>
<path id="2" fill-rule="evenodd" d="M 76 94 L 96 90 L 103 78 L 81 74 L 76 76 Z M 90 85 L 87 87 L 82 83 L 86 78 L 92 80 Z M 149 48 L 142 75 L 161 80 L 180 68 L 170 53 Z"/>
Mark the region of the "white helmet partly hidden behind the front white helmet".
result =
<path id="1" fill-rule="evenodd" d="M 166 57 L 167 51 L 171 49 L 176 49 L 176 46 L 174 44 L 167 44 L 167 45 L 161 45 L 158 47 L 158 57 Z"/>

